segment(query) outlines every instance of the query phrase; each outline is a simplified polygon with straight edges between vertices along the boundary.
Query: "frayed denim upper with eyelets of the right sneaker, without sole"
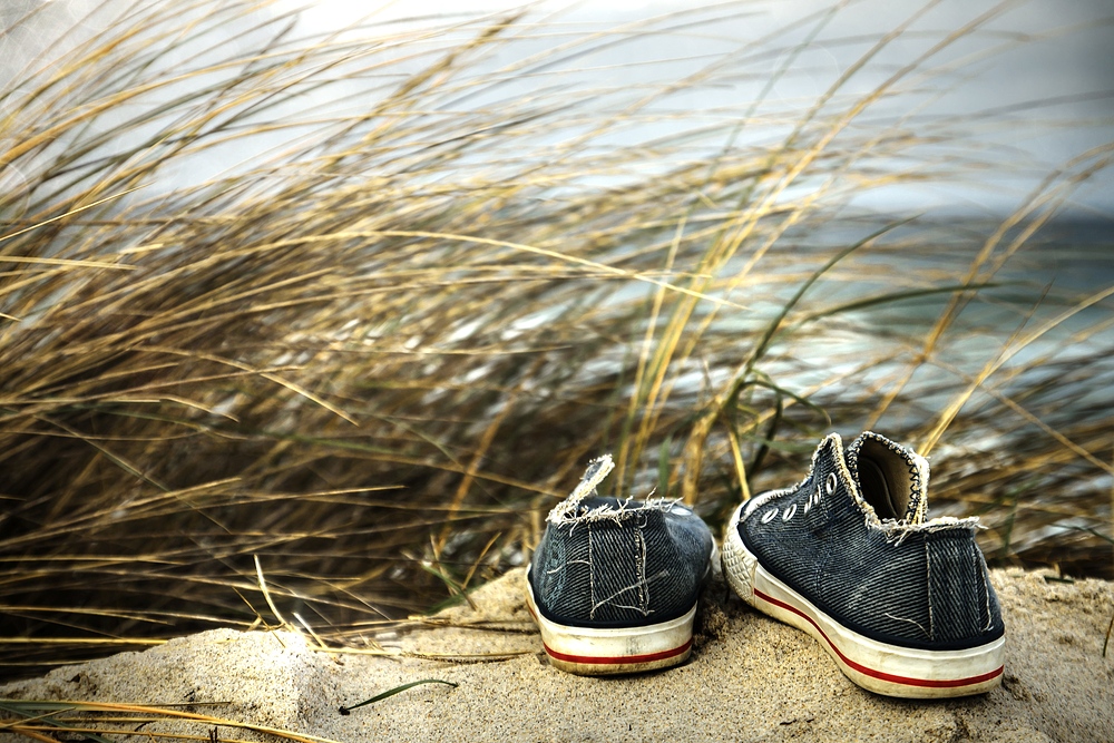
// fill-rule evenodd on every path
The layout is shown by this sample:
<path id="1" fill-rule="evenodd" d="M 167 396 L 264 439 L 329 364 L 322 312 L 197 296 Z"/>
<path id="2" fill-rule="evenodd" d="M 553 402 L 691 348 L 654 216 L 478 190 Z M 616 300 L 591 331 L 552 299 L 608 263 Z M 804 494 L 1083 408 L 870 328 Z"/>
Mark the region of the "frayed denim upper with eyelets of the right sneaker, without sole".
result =
<path id="1" fill-rule="evenodd" d="M 977 519 L 927 519 L 928 462 L 867 432 L 825 438 L 800 485 L 750 501 L 746 548 L 841 625 L 924 649 L 1003 635 L 998 598 L 975 544 Z"/>

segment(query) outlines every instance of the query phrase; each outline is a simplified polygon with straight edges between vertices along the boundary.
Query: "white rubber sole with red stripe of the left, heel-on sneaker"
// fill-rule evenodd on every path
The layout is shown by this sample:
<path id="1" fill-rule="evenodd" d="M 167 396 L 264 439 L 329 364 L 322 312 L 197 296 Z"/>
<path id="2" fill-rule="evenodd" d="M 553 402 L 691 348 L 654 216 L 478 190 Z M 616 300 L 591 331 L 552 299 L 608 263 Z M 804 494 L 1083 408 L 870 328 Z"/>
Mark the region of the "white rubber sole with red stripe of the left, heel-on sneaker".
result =
<path id="1" fill-rule="evenodd" d="M 695 604 L 682 617 L 645 627 L 574 627 L 541 615 L 534 600 L 529 568 L 525 581 L 527 606 L 555 668 L 582 676 L 641 673 L 678 665 L 692 653 Z"/>

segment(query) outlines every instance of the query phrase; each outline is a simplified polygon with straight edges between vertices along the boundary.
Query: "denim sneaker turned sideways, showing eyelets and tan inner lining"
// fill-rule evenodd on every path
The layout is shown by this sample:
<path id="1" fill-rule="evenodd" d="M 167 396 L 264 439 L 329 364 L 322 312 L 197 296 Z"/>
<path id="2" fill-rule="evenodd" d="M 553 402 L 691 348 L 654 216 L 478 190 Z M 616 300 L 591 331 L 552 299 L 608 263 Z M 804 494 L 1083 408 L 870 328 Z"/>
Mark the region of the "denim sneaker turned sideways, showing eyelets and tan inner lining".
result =
<path id="1" fill-rule="evenodd" d="M 832 433 L 797 486 L 735 510 L 723 569 L 751 606 L 802 629 L 856 684 L 910 698 L 1001 682 L 1005 628 L 977 518 L 928 520 L 928 461 Z"/>

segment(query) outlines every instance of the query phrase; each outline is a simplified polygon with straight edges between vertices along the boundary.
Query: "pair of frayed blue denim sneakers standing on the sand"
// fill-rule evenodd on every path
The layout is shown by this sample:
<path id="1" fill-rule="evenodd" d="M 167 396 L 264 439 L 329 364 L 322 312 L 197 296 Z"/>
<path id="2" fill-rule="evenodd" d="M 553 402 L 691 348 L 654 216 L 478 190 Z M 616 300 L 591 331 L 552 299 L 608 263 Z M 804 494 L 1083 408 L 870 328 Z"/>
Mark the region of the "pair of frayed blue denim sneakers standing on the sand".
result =
<path id="1" fill-rule="evenodd" d="M 549 662 L 583 675 L 683 663 L 716 555 L 692 510 L 604 498 L 610 457 L 547 518 L 526 598 Z M 909 698 L 1001 682 L 1005 629 L 977 519 L 928 519 L 928 461 L 873 432 L 820 442 L 808 477 L 732 515 L 723 571 L 754 608 L 802 629 L 851 681 Z"/>

